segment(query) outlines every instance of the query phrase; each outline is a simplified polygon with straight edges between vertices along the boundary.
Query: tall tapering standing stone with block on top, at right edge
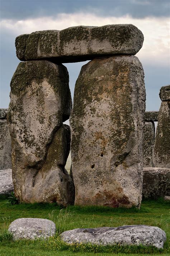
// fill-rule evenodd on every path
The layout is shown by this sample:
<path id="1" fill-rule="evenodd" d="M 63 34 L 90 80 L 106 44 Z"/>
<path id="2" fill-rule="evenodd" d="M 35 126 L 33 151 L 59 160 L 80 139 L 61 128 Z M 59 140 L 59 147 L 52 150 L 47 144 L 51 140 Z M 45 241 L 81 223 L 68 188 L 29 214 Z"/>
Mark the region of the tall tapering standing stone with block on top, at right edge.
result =
<path id="1" fill-rule="evenodd" d="M 159 110 L 154 147 L 155 167 L 170 168 L 170 85 L 160 89 Z"/>

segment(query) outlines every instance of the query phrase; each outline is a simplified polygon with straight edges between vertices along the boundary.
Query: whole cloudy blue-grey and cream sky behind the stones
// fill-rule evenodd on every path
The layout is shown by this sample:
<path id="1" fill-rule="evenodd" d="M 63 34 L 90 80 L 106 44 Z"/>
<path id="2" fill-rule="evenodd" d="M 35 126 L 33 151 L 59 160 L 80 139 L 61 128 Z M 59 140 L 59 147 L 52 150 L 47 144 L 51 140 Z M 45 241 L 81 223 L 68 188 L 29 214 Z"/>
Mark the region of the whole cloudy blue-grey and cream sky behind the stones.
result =
<path id="1" fill-rule="evenodd" d="M 146 110 L 159 110 L 160 87 L 170 84 L 169 0 L 0 0 L 0 5 L 0 108 L 8 108 L 10 80 L 19 63 L 16 36 L 79 25 L 132 23 L 145 37 L 136 56 L 145 72 Z M 72 96 L 85 63 L 65 64 Z"/>

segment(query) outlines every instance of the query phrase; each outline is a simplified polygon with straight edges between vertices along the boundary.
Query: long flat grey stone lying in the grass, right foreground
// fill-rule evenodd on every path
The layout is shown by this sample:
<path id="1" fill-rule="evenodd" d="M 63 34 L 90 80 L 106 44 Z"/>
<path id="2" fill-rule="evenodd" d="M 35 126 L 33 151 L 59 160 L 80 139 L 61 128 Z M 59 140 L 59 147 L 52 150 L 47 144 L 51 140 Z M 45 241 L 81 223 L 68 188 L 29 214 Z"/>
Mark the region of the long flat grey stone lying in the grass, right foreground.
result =
<path id="1" fill-rule="evenodd" d="M 139 245 L 163 248 L 166 241 L 164 230 L 155 226 L 132 225 L 117 228 L 77 228 L 65 231 L 61 239 L 66 243 L 91 243 L 100 245 Z"/>

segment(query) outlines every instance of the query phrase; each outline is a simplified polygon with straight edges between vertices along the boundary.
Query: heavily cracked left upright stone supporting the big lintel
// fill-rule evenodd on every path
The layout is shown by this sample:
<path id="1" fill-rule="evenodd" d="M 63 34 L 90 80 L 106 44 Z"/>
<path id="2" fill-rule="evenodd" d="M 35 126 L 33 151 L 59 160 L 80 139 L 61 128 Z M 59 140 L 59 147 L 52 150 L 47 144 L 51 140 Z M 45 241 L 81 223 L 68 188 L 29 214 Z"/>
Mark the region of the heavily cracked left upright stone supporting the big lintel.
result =
<path id="1" fill-rule="evenodd" d="M 24 202 L 74 202 L 65 170 L 71 95 L 66 67 L 47 60 L 22 62 L 11 80 L 8 122 L 15 196 Z"/>

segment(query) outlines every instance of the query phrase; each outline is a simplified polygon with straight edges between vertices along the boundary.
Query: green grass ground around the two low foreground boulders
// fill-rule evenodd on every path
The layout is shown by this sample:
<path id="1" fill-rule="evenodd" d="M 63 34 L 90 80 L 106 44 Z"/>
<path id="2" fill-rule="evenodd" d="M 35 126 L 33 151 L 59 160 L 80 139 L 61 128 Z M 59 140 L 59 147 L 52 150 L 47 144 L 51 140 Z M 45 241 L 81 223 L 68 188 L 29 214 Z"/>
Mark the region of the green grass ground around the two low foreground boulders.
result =
<path id="1" fill-rule="evenodd" d="M 55 204 L 10 205 L 6 198 L 0 199 L 0 255 L 2 256 L 45 256 L 45 255 L 169 255 L 169 203 L 162 199 L 143 201 L 140 210 L 69 206 L 62 209 Z M 20 217 L 47 218 L 56 223 L 57 234 L 48 241 L 13 242 L 8 234 L 9 224 Z M 154 247 L 137 246 L 68 246 L 60 241 L 60 234 L 74 228 L 95 228 L 100 226 L 120 226 L 145 224 L 165 230 L 167 242 L 163 250 Z"/>

